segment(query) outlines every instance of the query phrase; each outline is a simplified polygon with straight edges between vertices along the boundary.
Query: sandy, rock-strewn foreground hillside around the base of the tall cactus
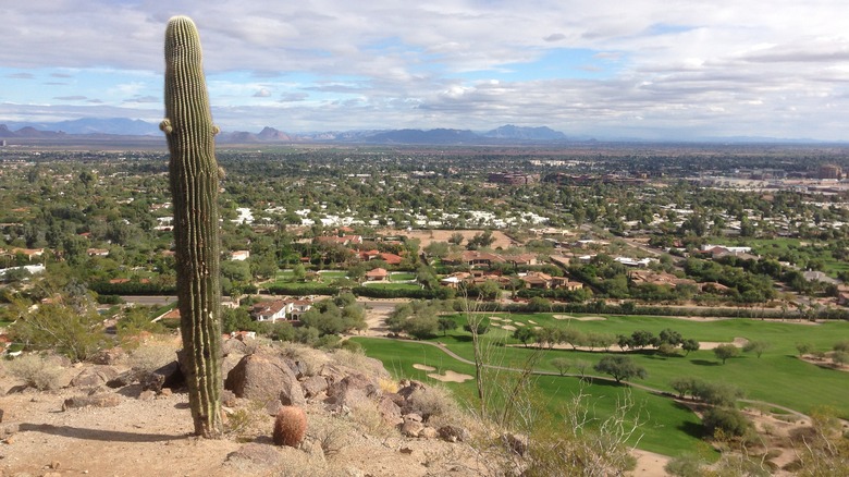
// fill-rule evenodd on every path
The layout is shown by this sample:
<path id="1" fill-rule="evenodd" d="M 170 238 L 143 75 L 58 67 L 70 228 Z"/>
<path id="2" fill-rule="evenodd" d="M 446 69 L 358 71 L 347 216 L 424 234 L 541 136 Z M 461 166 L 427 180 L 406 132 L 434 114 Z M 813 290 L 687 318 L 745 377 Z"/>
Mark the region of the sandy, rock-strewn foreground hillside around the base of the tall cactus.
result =
<path id="1" fill-rule="evenodd" d="M 471 444 L 480 429 L 440 388 L 395 382 L 379 362 L 346 351 L 237 340 L 224 348 L 226 438 L 220 440 L 190 435 L 176 343 L 113 350 L 90 364 L 5 363 L 0 475 L 500 473 Z M 297 448 L 271 439 L 273 416 L 284 405 L 307 414 Z M 503 455 L 522 451 L 520 438 L 497 438 Z"/>

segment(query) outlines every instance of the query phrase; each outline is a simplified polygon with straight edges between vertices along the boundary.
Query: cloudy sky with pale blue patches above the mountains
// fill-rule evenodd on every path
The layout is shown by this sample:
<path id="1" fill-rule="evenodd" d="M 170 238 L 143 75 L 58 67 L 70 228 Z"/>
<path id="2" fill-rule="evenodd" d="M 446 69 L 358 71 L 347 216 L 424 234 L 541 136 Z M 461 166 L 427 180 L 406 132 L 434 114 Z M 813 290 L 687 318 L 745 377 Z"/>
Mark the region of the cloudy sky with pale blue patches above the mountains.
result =
<path id="1" fill-rule="evenodd" d="M 174 14 L 225 131 L 849 139 L 846 0 L 5 1 L 0 124 L 159 122 Z"/>

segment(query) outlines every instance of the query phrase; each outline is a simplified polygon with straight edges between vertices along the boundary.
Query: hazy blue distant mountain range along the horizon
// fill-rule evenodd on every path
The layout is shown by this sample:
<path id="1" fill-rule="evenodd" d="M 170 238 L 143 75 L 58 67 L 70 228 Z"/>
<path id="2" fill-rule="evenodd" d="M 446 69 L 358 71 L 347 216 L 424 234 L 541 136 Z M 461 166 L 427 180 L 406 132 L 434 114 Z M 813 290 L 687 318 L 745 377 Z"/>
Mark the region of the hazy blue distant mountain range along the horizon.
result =
<path id="1" fill-rule="evenodd" d="M 61 139 L 63 137 L 86 135 L 108 139 L 107 136 L 151 136 L 161 138 L 157 124 L 126 118 L 79 119 L 53 123 L 7 122 L 0 124 L 0 138 L 41 138 Z M 567 142 L 565 134 L 550 127 L 524 127 L 504 125 L 492 131 L 472 132 L 469 130 L 389 130 L 389 131 L 344 131 L 319 132 L 309 134 L 290 134 L 273 127 L 264 127 L 259 133 L 244 131 L 222 132 L 217 142 L 222 144 L 253 143 L 368 143 L 368 144 L 457 144 L 487 145 L 505 143 L 551 143 Z"/>

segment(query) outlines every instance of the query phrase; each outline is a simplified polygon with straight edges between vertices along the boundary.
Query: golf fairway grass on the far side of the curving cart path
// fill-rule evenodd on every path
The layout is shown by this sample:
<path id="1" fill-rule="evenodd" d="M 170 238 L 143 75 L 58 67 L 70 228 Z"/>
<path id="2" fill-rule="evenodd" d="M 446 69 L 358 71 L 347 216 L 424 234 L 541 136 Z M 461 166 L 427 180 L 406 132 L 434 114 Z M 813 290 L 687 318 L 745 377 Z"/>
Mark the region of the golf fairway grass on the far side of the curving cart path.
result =
<path id="1" fill-rule="evenodd" d="M 574 327 L 583 332 L 604 332 L 611 334 L 630 334 L 636 330 L 648 330 L 655 335 L 664 328 L 680 332 L 684 338 L 694 338 L 700 342 L 730 342 L 735 338 L 761 340 L 771 344 L 761 358 L 743 353 L 740 357 L 728 359 L 725 365 L 712 351 L 697 351 L 689 356 L 663 357 L 650 351 L 628 353 L 648 370 L 648 378 L 640 380 L 652 388 L 673 392 L 669 381 L 677 377 L 692 376 L 705 381 L 723 381 L 735 384 L 746 392 L 748 399 L 766 401 L 792 409 L 810 413 L 819 406 L 834 408 L 842 418 L 849 418 L 849 372 L 820 367 L 797 358 L 796 343 L 807 342 L 814 350 L 828 351 L 832 346 L 849 337 L 849 322 L 834 321 L 811 326 L 796 322 L 761 321 L 751 319 L 729 319 L 719 321 L 689 321 L 661 317 L 605 317 L 605 320 L 579 321 L 555 320 L 550 314 L 504 315 L 513 321 L 526 326 Z M 460 318 L 457 318 L 459 320 Z M 497 322 L 497 321 L 496 321 Z M 509 333 L 497 328 L 484 338 L 495 341 L 516 343 Z M 455 330 L 447 337 L 434 339 L 442 341 L 452 351 L 465 358 L 472 358 L 472 347 L 468 333 Z M 510 347 L 503 353 L 505 366 L 519 366 L 532 350 Z M 618 351 L 617 346 L 611 348 Z M 550 360 L 554 357 L 581 359 L 598 363 L 608 353 L 581 352 L 571 350 L 552 350 L 540 363 L 542 370 L 554 371 Z M 573 369 L 574 371 L 574 369 Z"/>

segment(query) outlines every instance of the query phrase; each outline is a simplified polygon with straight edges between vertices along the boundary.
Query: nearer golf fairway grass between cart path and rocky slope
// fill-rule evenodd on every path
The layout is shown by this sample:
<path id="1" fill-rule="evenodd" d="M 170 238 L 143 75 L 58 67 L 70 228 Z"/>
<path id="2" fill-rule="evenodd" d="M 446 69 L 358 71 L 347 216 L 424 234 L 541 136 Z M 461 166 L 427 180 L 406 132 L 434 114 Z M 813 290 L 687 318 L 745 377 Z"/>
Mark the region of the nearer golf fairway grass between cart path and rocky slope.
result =
<path id="1" fill-rule="evenodd" d="M 417 343 L 415 341 L 379 340 L 369 338 L 352 338 L 362 344 L 369 356 L 383 362 L 383 365 L 396 378 L 410 378 L 422 382 L 438 383 L 429 378 L 428 371 L 413 367 L 414 364 L 422 364 L 436 368 L 443 374 L 453 370 L 473 376 L 475 368 L 471 365 L 460 363 L 450 357 L 434 346 Z M 509 372 L 501 372 L 501 378 L 509 379 Z M 497 379 L 497 378 L 496 378 Z M 543 426 L 564 426 L 563 412 L 565 406 L 579 392 L 587 397 L 585 404 L 590 408 L 591 415 L 604 418 L 623 399 L 627 388 L 607 382 L 596 381 L 589 383 L 578 378 L 542 376 L 536 381 L 540 409 L 545 417 L 540 419 Z M 455 395 L 471 406 L 477 406 L 475 381 L 464 383 L 445 383 Z M 640 435 L 635 436 L 635 443 L 640 449 L 657 452 L 665 455 L 680 455 L 685 452 L 704 452 L 705 445 L 702 438 L 702 427 L 699 418 L 689 409 L 676 404 L 673 400 L 657 396 L 649 392 L 630 390 L 635 402 L 632 415 L 639 413 L 639 419 L 643 423 Z M 637 438 L 639 441 L 637 442 Z M 710 458 L 715 454 L 710 452 Z"/>

